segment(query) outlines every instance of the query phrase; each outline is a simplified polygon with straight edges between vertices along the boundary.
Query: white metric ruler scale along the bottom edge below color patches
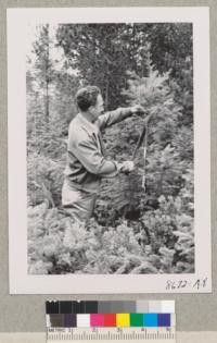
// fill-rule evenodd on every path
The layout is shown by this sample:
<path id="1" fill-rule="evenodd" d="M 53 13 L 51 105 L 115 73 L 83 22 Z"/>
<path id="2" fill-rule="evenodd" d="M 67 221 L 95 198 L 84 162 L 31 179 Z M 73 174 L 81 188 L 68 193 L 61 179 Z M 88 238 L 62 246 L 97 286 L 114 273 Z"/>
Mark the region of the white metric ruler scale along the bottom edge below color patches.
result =
<path id="1" fill-rule="evenodd" d="M 48 328 L 47 343 L 53 342 L 149 342 L 175 343 L 175 328 Z"/>

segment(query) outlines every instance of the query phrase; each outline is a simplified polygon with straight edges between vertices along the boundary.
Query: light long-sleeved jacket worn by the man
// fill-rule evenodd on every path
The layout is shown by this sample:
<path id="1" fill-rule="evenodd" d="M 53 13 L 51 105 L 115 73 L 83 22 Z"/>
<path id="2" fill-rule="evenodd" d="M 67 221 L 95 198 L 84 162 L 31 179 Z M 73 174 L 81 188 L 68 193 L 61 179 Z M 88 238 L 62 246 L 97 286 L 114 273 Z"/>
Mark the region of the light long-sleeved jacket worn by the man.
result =
<path id="1" fill-rule="evenodd" d="M 69 186 L 91 193 L 99 191 L 103 176 L 102 167 L 107 163 L 101 131 L 131 114 L 131 108 L 118 108 L 100 115 L 94 123 L 89 122 L 80 113 L 72 120 L 64 172 Z"/>

